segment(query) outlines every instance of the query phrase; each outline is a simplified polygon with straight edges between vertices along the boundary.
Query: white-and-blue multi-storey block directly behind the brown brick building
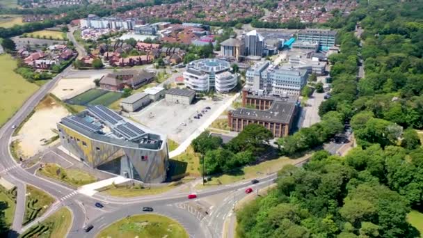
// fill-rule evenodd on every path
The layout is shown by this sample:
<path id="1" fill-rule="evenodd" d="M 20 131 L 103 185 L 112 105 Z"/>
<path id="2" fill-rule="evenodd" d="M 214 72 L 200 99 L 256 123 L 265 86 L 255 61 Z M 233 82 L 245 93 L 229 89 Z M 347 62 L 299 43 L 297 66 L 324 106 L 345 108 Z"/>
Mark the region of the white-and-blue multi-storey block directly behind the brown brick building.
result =
<path id="1" fill-rule="evenodd" d="M 246 85 L 252 90 L 263 90 L 272 95 L 299 95 L 307 83 L 308 70 L 281 68 L 266 61 L 246 72 Z"/>

